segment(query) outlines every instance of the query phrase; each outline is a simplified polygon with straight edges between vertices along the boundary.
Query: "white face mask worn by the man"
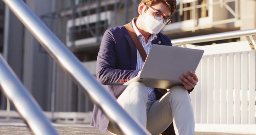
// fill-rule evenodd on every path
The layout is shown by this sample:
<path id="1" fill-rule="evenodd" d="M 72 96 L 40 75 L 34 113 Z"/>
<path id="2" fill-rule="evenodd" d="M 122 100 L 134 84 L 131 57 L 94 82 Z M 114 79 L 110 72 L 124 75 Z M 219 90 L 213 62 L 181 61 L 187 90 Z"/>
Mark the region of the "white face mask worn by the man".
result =
<path id="1" fill-rule="evenodd" d="M 162 28 L 164 28 L 165 24 L 163 23 L 163 20 L 156 20 L 154 16 L 152 15 L 146 15 L 144 18 L 144 23 L 146 30 L 150 34 L 158 34 Z"/>

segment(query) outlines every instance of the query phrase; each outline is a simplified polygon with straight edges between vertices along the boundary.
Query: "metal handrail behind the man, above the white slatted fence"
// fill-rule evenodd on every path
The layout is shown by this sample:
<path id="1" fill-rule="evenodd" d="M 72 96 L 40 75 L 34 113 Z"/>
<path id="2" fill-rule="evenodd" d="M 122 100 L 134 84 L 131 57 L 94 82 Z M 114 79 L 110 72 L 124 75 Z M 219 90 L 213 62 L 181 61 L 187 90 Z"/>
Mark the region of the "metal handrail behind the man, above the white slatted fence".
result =
<path id="1" fill-rule="evenodd" d="M 189 38 L 180 38 L 172 40 L 173 46 L 179 46 L 183 44 L 194 44 L 194 43 L 202 43 L 216 40 L 225 40 L 231 38 L 240 38 L 241 36 L 251 36 L 256 35 L 256 29 L 249 30 L 236 30 L 232 32 L 223 32 L 217 34 L 209 34 L 203 36 L 194 36 Z"/>

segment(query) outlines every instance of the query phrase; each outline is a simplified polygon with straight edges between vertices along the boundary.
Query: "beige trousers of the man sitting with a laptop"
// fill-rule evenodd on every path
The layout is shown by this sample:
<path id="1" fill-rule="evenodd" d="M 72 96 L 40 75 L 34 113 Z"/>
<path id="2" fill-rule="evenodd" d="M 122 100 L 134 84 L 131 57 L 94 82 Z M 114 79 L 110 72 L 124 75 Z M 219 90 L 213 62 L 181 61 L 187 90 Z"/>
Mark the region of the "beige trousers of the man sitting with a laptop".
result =
<path id="1" fill-rule="evenodd" d="M 117 102 L 152 135 L 159 135 L 174 123 L 176 135 L 194 135 L 194 113 L 188 91 L 183 86 L 172 87 L 161 99 L 149 101 L 146 86 L 133 82 L 118 97 Z M 108 131 L 118 133 L 109 124 Z"/>

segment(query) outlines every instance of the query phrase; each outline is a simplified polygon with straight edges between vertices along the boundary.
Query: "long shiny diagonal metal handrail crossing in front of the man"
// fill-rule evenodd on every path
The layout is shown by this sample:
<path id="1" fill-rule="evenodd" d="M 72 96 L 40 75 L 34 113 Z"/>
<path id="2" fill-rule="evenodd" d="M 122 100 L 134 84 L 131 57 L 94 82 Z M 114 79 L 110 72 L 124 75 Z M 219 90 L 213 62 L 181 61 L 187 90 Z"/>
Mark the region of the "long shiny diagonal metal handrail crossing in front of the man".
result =
<path id="1" fill-rule="evenodd" d="M 120 132 L 127 135 L 149 135 L 135 122 L 116 100 L 98 83 L 70 50 L 28 8 L 22 0 L 3 0 L 19 20 L 30 30 L 54 60 L 80 85 L 102 111 L 115 122 Z M 37 126 L 37 125 L 36 125 Z M 38 125 L 41 126 L 41 125 Z"/>

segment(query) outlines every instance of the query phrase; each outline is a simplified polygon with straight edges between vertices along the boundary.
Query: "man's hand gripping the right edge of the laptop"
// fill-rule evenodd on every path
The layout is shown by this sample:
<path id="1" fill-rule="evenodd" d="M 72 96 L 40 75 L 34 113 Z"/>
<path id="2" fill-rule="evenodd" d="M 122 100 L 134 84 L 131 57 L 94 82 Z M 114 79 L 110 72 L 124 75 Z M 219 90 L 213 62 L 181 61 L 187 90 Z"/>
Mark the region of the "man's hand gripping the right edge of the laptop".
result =
<path id="1" fill-rule="evenodd" d="M 182 83 L 187 90 L 193 89 L 198 82 L 196 73 L 193 71 L 189 71 L 189 73 L 190 75 L 188 73 L 183 73 L 183 75 L 180 76 L 180 83 Z"/>

